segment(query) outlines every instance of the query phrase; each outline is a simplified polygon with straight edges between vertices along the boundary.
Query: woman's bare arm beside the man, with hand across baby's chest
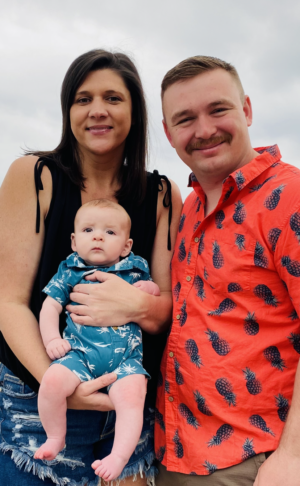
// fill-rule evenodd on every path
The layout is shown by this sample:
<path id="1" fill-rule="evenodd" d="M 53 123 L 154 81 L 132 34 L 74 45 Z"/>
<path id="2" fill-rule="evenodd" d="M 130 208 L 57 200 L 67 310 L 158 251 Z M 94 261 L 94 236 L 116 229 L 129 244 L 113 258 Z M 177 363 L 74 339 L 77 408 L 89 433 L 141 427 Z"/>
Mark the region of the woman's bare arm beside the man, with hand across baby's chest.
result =
<path id="1" fill-rule="evenodd" d="M 143 293 L 116 275 L 95 272 L 93 276 L 105 282 L 104 284 L 78 284 L 74 287 L 75 291 L 70 294 L 71 300 L 80 304 L 67 306 L 74 322 L 92 326 L 118 326 L 133 321 L 151 334 L 162 332 L 169 326 L 172 310 L 170 261 L 182 201 L 178 187 L 172 183 L 172 249 L 169 251 L 167 249 L 169 209 L 163 206 L 165 190 L 164 186 L 164 191 L 158 195 L 157 231 L 151 261 L 152 278 L 158 284 L 161 295 L 157 297 Z"/>

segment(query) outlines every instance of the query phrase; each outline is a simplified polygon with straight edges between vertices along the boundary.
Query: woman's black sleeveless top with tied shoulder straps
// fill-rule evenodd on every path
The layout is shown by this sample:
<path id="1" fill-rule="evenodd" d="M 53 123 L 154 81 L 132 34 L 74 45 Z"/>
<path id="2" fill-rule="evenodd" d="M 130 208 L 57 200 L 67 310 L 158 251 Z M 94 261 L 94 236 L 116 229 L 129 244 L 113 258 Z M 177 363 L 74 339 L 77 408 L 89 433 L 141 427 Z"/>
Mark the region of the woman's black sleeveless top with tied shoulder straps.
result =
<path id="1" fill-rule="evenodd" d="M 39 313 L 45 294 L 42 289 L 57 272 L 62 260 L 72 252 L 70 236 L 74 230 L 75 214 L 81 206 L 81 194 L 79 187 L 75 186 L 68 176 L 56 166 L 51 159 L 43 159 L 35 166 L 35 186 L 37 192 L 37 219 L 36 231 L 39 231 L 40 207 L 38 195 L 43 189 L 41 172 L 46 165 L 52 175 L 53 195 L 49 213 L 45 220 L 45 241 L 38 273 L 35 279 L 30 308 L 39 320 Z M 151 253 L 156 233 L 157 195 L 162 190 L 164 179 L 167 183 L 167 192 L 164 198 L 164 206 L 169 207 L 169 234 L 166 245 L 170 249 L 170 221 L 172 216 L 171 186 L 165 176 L 160 176 L 157 171 L 147 172 L 147 191 L 143 202 L 140 205 L 131 200 L 119 201 L 128 212 L 131 222 L 131 238 L 133 239 L 132 251 L 145 258 L 151 271 Z M 60 330 L 65 327 L 65 315 L 60 316 Z M 157 377 L 163 349 L 166 342 L 166 333 L 151 335 L 143 331 L 145 369 L 151 376 L 148 382 L 148 396 L 154 399 L 157 386 Z M 30 388 L 37 391 L 39 383 L 20 363 L 13 354 L 3 335 L 0 333 L 0 361 L 7 366 L 16 376 L 24 381 Z"/>

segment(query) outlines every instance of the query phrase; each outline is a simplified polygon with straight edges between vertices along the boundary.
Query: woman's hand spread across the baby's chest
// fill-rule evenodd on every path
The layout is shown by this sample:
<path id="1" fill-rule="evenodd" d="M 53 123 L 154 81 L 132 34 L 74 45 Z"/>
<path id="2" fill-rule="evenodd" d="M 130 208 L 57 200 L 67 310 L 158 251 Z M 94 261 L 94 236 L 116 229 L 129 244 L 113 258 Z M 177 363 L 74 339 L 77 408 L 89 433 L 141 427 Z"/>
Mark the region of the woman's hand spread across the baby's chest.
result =
<path id="1" fill-rule="evenodd" d="M 80 305 L 66 306 L 73 322 L 88 326 L 122 326 L 136 322 L 137 310 L 141 312 L 143 307 L 144 292 L 106 272 L 94 272 L 86 280 L 103 283 L 75 285 L 70 299 Z"/>

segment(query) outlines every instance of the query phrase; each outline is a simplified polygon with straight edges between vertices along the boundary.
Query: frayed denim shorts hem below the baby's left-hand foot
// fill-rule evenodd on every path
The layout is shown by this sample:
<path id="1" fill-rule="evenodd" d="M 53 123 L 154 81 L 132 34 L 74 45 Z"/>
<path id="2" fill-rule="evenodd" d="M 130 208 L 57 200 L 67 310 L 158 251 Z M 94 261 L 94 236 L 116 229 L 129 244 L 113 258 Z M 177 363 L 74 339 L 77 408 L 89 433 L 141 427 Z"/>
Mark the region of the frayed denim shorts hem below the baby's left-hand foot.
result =
<path id="1" fill-rule="evenodd" d="M 3 452 L 3 454 L 11 452 L 11 459 L 14 461 L 18 469 L 24 468 L 25 472 L 31 472 L 33 475 L 38 476 L 42 481 L 47 478 L 51 479 L 57 486 L 85 486 L 86 484 L 88 486 L 98 486 L 99 484 L 99 478 L 95 478 L 93 481 L 89 481 L 88 478 L 82 478 L 79 482 L 67 477 L 59 478 L 50 466 L 42 465 L 34 461 L 27 452 L 22 451 L 22 447 L 17 448 L 2 442 L 0 444 L 0 452 Z"/>

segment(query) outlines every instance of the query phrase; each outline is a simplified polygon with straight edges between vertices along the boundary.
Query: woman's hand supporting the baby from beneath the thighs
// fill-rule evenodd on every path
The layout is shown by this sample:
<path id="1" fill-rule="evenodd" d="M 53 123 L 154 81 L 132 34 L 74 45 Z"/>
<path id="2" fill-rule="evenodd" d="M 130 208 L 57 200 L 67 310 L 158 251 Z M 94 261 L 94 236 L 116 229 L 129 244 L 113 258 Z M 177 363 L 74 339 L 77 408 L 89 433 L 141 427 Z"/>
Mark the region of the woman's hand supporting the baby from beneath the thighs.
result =
<path id="1" fill-rule="evenodd" d="M 98 412 L 109 412 L 114 410 L 111 399 L 106 393 L 98 390 L 116 381 L 116 373 L 109 373 L 100 376 L 95 380 L 81 383 L 70 397 L 68 397 L 68 408 L 73 410 L 97 410 Z"/>

